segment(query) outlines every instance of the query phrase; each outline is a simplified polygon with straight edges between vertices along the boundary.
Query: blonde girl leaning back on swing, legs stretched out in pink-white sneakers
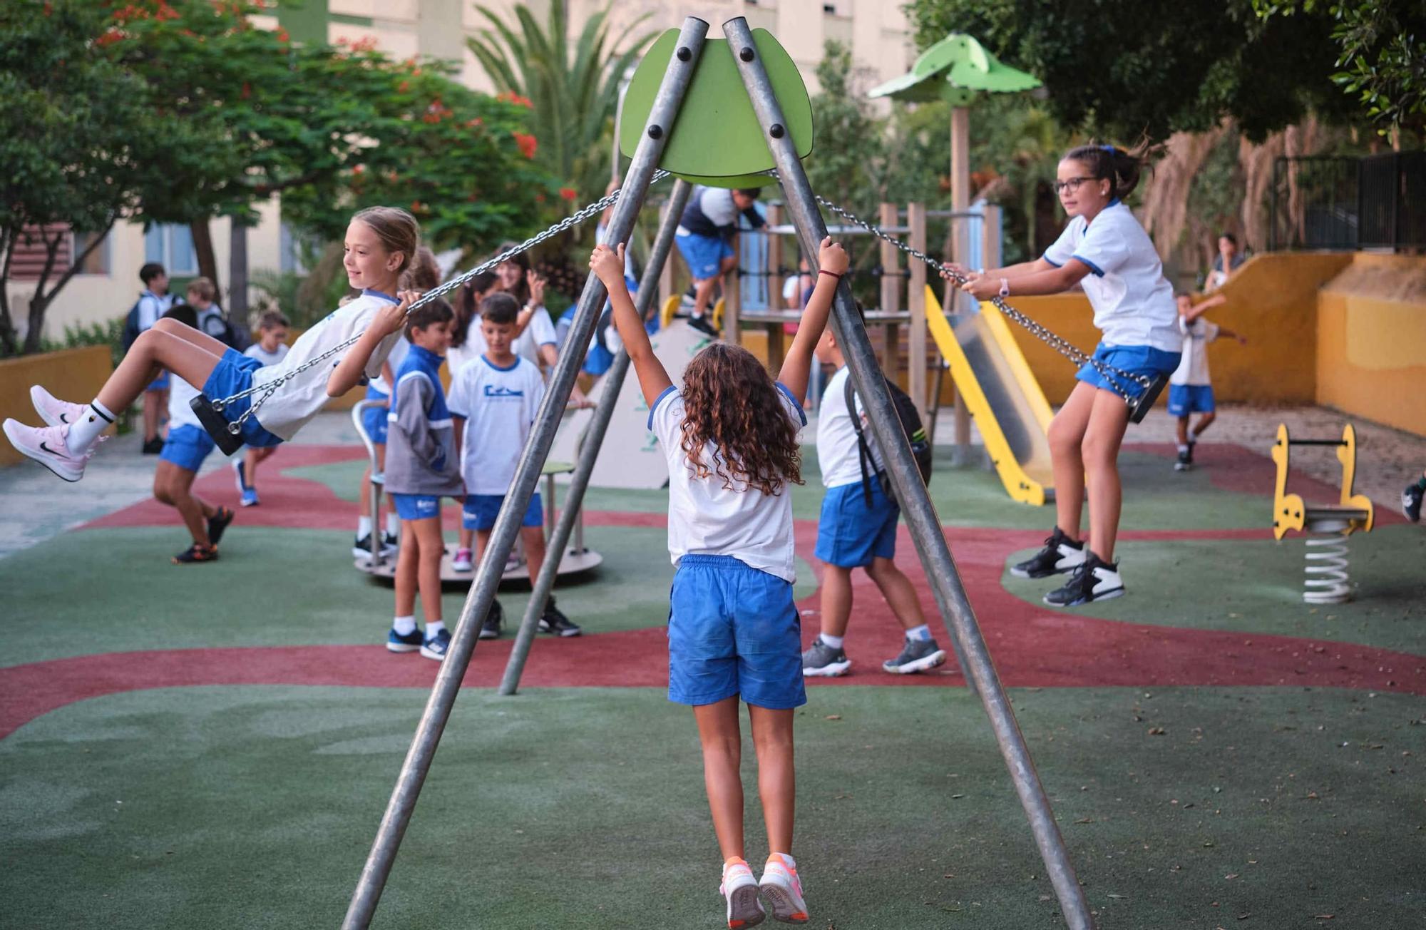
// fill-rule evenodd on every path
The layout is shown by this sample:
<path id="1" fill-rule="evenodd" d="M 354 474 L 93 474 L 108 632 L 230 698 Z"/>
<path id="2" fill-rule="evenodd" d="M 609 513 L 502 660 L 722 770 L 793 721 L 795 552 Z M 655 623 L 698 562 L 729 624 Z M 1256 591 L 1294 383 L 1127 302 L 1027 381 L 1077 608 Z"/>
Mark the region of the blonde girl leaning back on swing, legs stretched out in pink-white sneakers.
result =
<path id="1" fill-rule="evenodd" d="M 100 434 L 114 422 L 116 414 L 128 409 L 160 371 L 168 369 L 188 384 L 202 385 L 210 399 L 218 399 L 250 387 L 272 384 L 361 334 L 339 359 L 295 375 L 277 388 L 257 415 L 242 422 L 242 441 L 251 446 L 271 446 L 291 439 L 329 398 L 351 391 L 364 375 L 375 378 L 381 374 L 381 365 L 405 324 L 406 308 L 419 297 L 412 291 L 396 297 L 396 281 L 415 255 L 419 238 L 421 227 L 405 210 L 368 207 L 356 213 L 347 227 L 344 265 L 348 284 L 361 291 L 361 297 L 304 332 L 277 365 L 264 368 L 258 359 L 247 358 L 193 327 L 160 320 L 138 337 L 93 401 L 70 404 L 34 385 L 30 398 L 48 426 L 26 426 L 6 419 L 4 434 L 16 449 L 64 481 L 78 481 Z M 251 395 L 225 407 L 222 415 L 232 422 L 250 405 Z"/>

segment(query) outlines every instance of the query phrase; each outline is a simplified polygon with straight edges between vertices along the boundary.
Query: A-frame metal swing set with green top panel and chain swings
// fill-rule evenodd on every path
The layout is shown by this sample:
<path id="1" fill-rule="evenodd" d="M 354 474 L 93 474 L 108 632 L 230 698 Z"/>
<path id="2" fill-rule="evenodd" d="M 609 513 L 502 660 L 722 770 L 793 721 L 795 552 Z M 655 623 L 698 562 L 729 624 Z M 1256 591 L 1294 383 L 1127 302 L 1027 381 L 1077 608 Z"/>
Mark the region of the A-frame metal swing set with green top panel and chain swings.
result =
<path id="1" fill-rule="evenodd" d="M 627 241 L 649 187 L 670 174 L 676 175 L 677 181 L 637 291 L 636 305 L 645 317 L 652 308 L 653 295 L 657 291 L 656 281 L 667 261 L 674 230 L 693 184 L 717 187 L 780 184 L 804 254 L 814 255 L 817 244 L 827 232 L 819 211 L 819 205 L 821 205 L 927 267 L 937 271 L 945 270 L 941 262 L 921 250 L 901 242 L 890 232 L 813 194 L 801 165 L 801 158 L 811 153 L 811 104 L 796 64 L 777 40 L 766 30 L 750 29 L 743 17 L 723 24 L 723 40 L 707 39 L 707 31 L 706 21 L 687 17 L 682 29 L 666 31 L 653 44 L 635 73 L 629 86 L 619 140 L 625 154 L 632 158 L 623 188 L 429 291 L 412 304 L 412 310 L 461 287 L 481 271 L 493 268 L 512 255 L 597 215 L 609 205 L 613 205 L 615 210 L 606 241 Z M 580 292 L 570 327 L 570 345 L 589 342 L 605 300 L 603 285 L 597 277 L 590 274 Z M 1149 379 L 1104 365 L 1014 310 L 1004 300 L 997 298 L 992 302 L 1005 317 L 1030 329 L 1065 358 L 1075 364 L 1094 365 L 1124 397 L 1129 405 L 1132 421 L 1142 419 L 1162 389 L 1164 379 Z M 921 481 L 906 432 L 901 429 L 891 395 L 881 378 L 878 359 L 867 337 L 867 329 L 857 315 L 846 281 L 841 281 L 837 288 L 831 325 L 846 352 L 856 391 L 866 405 L 871 431 L 884 451 L 887 474 L 906 515 L 941 618 L 950 632 L 961 670 L 965 673 L 967 688 L 980 696 L 990 717 L 991 729 L 1030 820 L 1065 923 L 1071 930 L 1092 929 L 1094 920 L 1084 891 L 1075 879 L 1064 839 L 1050 807 L 1050 799 L 1035 773 L 1030 749 L 991 662 L 974 609 L 965 596 L 965 588 L 941 532 L 940 518 L 927 496 L 925 485 Z M 194 411 L 220 448 L 225 452 L 235 449 L 242 422 L 255 415 L 262 402 L 284 382 L 299 371 L 322 364 L 332 355 L 345 351 L 355 344 L 356 338 L 354 337 L 324 352 L 262 388 L 250 388 L 225 398 L 198 397 L 193 402 Z M 441 663 L 431 698 L 358 880 L 342 923 L 347 930 L 365 929 L 371 924 L 401 840 L 411 822 L 416 797 L 429 772 L 441 733 L 449 719 L 461 680 L 471 663 L 481 619 L 495 599 L 506 558 L 515 545 L 522 516 L 540 479 L 579 367 L 579 352 L 566 352 L 550 375 L 549 389 L 520 455 L 509 494 L 496 516 L 491 541 L 461 609 L 449 652 Z M 589 475 L 593 471 L 599 446 L 613 415 L 619 387 L 627 369 L 629 357 L 620 351 L 606 375 L 609 381 L 585 434 L 565 508 L 553 526 L 549 539 L 553 552 L 563 552 L 575 531 Z M 1135 395 L 1128 385 L 1138 385 L 1142 391 Z M 252 401 L 237 422 L 230 424 L 224 418 L 222 411 L 228 405 L 258 391 L 262 391 L 261 397 Z M 552 589 L 558 563 L 559 559 L 546 559 L 535 579 L 530 608 L 520 622 L 501 683 L 499 693 L 502 695 L 513 695 L 519 685 L 539 619 L 536 605 L 543 603 Z"/>

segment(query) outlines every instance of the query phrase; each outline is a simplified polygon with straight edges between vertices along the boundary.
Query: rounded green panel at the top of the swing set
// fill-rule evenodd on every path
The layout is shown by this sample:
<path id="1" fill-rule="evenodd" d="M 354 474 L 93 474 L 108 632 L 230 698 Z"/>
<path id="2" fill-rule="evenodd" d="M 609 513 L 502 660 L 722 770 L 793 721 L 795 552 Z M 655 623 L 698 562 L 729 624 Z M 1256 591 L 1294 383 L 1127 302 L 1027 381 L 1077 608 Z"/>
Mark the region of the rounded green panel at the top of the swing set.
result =
<path id="1" fill-rule="evenodd" d="M 677 41 L 679 30 L 666 31 L 653 43 L 629 84 L 619 133 L 619 147 L 629 157 L 633 157 L 639 145 L 649 110 L 653 107 L 653 98 L 659 93 L 659 84 L 663 81 Z M 807 98 L 801 74 L 787 51 L 766 29 L 754 29 L 753 41 L 781 104 L 797 157 L 806 158 L 811 153 L 813 126 L 811 101 Z M 660 167 L 677 175 L 703 180 L 754 174 L 774 167 L 773 154 L 767 150 L 763 128 L 757 123 L 757 114 L 753 113 L 753 104 L 743 88 L 743 78 L 737 74 L 737 63 L 726 39 L 710 39 L 703 43 L 697 71 L 663 148 Z M 742 180 L 736 185 L 756 187 L 743 184 Z"/>

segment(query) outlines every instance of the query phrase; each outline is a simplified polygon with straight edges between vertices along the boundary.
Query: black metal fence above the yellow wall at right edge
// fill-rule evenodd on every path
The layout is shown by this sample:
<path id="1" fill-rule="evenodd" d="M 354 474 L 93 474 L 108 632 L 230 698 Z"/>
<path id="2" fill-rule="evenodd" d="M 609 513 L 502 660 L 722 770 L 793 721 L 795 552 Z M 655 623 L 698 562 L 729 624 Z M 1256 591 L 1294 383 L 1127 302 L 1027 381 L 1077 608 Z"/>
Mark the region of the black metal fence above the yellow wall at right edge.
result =
<path id="1" fill-rule="evenodd" d="M 1426 248 L 1426 153 L 1278 158 L 1268 248 Z"/>

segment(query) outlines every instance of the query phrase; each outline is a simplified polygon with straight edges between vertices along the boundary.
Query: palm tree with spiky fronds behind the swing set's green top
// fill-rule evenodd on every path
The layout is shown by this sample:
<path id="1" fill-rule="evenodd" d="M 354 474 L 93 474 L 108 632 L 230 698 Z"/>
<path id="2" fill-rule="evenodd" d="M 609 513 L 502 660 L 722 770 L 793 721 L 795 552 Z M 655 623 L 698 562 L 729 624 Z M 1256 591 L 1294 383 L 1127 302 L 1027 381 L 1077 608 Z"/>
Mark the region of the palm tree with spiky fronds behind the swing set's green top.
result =
<path id="1" fill-rule="evenodd" d="M 579 203 L 603 194 L 619 81 L 656 36 L 630 39 L 645 14 L 610 41 L 612 6 L 590 16 L 570 43 L 565 0 L 550 0 L 543 27 L 525 4 L 515 7 L 518 26 L 478 4 L 489 27 L 466 40 L 499 93 L 529 101 L 535 160 L 576 191 Z"/>

